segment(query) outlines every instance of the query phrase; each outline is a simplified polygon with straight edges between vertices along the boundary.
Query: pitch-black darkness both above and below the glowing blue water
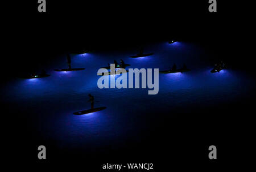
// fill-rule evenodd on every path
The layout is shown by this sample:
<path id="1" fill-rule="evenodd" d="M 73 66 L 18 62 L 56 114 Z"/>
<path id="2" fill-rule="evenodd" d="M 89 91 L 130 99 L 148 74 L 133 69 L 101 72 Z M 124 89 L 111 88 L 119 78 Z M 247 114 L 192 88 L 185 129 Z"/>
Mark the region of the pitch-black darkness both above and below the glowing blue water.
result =
<path id="1" fill-rule="evenodd" d="M 98 51 L 125 49 L 146 42 L 168 41 L 173 37 L 198 42 L 212 50 L 215 60 L 225 59 L 232 68 L 247 70 L 249 75 L 254 75 L 253 57 L 249 55 L 252 46 L 247 41 L 251 38 L 249 32 L 253 22 L 249 18 L 250 4 L 217 1 L 216 13 L 210 13 L 208 6 L 206 0 L 47 1 L 47 12 L 40 13 L 37 1 L 10 2 L 5 6 L 3 19 L 6 24 L 2 26 L 6 29 L 3 33 L 7 36 L 8 49 L 5 51 L 9 55 L 1 59 L 3 64 L 12 64 L 14 70 L 6 72 L 10 66 L 3 65 L 6 76 L 3 77 L 8 80 L 22 68 L 47 64 L 51 61 L 48 53 L 59 55 L 87 46 Z M 13 164 L 94 169 L 89 171 L 100 171 L 100 164 L 106 162 L 154 163 L 155 171 L 173 167 L 206 167 L 205 170 L 220 169 L 222 165 L 236 167 L 244 161 L 250 162 L 250 154 L 253 154 L 250 118 L 254 114 L 255 93 L 248 97 L 246 102 L 227 102 L 213 109 L 200 107 L 172 120 L 159 119 L 154 122 L 156 126 L 152 131 L 143 132 L 141 144 L 134 145 L 130 138 L 127 148 L 118 152 L 102 148 L 104 154 L 92 151 L 86 155 L 79 151 L 60 151 L 54 141 L 40 140 L 40 135 L 27 127 L 32 121 L 22 117 L 12 119 L 15 110 L 2 100 L 2 109 L 9 111 L 7 118 L 16 123 L 16 127 L 9 128 L 11 132 L 6 134 L 3 152 L 5 159 Z M 180 128 L 181 124 L 187 127 Z M 177 128 L 179 132 L 170 136 L 172 141 L 159 139 L 168 135 L 167 131 L 177 131 Z M 37 159 L 38 145 L 47 146 L 47 160 Z M 209 145 L 216 145 L 218 160 L 208 159 Z M 158 161 L 158 157 L 154 160 L 147 158 L 147 154 L 157 155 L 159 152 L 162 152 L 159 159 L 166 157 L 165 162 Z"/>

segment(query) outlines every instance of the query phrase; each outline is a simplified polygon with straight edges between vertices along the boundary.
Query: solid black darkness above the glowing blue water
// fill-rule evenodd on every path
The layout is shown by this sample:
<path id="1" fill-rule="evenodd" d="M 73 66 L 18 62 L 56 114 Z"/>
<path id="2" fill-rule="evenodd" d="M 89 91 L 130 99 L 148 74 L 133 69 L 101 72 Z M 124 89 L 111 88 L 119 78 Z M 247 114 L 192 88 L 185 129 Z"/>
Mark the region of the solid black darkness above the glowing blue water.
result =
<path id="1" fill-rule="evenodd" d="M 10 62 L 15 58 L 18 64 L 15 69 L 19 71 L 20 66 L 31 68 L 51 61 L 49 53 L 61 54 L 85 47 L 125 49 L 144 42 L 176 38 L 200 42 L 214 55 L 230 60 L 229 65 L 243 63 L 239 68 L 253 67 L 248 63 L 247 51 L 251 48 L 247 40 L 253 31 L 251 5 L 217 3 L 217 12 L 211 13 L 206 0 L 47 1 L 47 12 L 40 13 L 37 1 L 10 2 L 3 18 L 7 21 L 3 36 L 7 35 L 5 44 L 12 58 L 3 60 Z M 26 52 L 31 53 L 16 58 L 17 54 Z"/>

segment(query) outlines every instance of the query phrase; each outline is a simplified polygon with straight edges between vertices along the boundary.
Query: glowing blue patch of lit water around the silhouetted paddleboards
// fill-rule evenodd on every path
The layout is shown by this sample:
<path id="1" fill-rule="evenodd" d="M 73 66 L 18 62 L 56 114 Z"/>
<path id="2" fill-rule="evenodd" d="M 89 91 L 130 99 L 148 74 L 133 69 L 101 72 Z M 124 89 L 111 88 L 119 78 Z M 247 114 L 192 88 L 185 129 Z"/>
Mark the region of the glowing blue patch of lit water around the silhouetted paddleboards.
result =
<path id="1" fill-rule="evenodd" d="M 145 120 L 159 118 L 158 109 L 163 116 L 173 111 L 187 113 L 189 108 L 186 107 L 212 106 L 243 98 L 255 87 L 254 80 L 242 71 L 225 69 L 212 74 L 213 66 L 205 62 L 210 52 L 205 52 L 200 46 L 185 42 L 167 44 L 162 42 L 150 46 L 145 52 L 155 54 L 142 58 L 129 58 L 133 54 L 131 51 L 86 53 L 84 57 L 72 55 L 72 67 L 85 67 L 81 71 L 53 71 L 68 67 L 65 57 L 60 57 L 47 66 L 52 69 L 47 70 L 51 76 L 16 78 L 1 89 L 1 94 L 3 100 L 27 114 L 24 118 L 34 121 L 31 125 L 46 140 L 56 140 L 61 148 L 90 149 L 125 144 L 123 138 L 150 127 Z M 159 68 L 160 71 L 167 70 L 174 63 L 177 67 L 186 63 L 191 71 L 159 73 L 159 93 L 156 95 L 148 95 L 148 89 L 99 89 L 97 71 L 114 59 L 118 62 L 123 59 L 131 65 L 126 69 Z M 73 115 L 76 111 L 90 109 L 89 93 L 95 98 L 95 108 L 107 108 L 86 115 Z"/>

